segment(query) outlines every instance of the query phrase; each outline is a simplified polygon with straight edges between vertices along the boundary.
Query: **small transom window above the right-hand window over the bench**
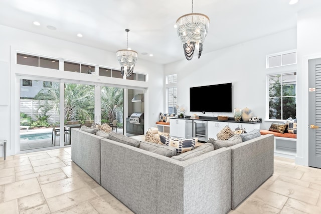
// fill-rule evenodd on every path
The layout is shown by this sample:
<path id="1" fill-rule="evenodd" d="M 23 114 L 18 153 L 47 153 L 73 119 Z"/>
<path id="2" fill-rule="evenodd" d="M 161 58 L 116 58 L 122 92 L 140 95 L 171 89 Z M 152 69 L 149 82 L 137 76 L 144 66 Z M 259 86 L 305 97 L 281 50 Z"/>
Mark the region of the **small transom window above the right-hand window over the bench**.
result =
<path id="1" fill-rule="evenodd" d="M 266 68 L 296 64 L 296 50 L 266 56 Z"/>

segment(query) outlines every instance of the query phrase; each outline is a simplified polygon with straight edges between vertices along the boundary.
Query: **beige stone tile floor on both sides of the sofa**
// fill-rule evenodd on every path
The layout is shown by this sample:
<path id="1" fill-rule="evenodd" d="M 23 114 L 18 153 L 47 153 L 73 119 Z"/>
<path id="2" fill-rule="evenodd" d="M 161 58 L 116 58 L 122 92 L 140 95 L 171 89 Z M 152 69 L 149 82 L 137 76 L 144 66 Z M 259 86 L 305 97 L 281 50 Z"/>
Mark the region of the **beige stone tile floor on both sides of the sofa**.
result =
<path id="1" fill-rule="evenodd" d="M 0 213 L 132 213 L 71 160 L 71 147 L 0 158 Z M 274 157 L 274 174 L 229 214 L 321 213 L 321 169 Z"/>

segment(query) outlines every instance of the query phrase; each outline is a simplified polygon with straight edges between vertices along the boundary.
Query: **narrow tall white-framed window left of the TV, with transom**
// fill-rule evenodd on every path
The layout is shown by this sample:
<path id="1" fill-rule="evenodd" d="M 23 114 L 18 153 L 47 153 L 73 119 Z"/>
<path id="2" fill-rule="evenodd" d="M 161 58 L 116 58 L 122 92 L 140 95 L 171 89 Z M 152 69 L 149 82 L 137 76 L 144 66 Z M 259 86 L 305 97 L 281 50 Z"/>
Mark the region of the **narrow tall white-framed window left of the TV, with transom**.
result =
<path id="1" fill-rule="evenodd" d="M 166 76 L 168 113 L 177 114 L 177 74 Z"/>

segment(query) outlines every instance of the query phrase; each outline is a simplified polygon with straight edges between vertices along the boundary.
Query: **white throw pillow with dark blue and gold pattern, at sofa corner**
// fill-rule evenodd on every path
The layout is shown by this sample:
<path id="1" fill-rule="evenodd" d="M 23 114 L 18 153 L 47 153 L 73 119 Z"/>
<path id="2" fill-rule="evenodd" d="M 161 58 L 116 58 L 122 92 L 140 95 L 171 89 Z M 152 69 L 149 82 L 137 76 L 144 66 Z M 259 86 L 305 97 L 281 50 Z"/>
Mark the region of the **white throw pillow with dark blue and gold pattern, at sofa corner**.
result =
<path id="1" fill-rule="evenodd" d="M 165 142 L 164 143 L 165 145 L 176 148 L 177 155 L 193 150 L 198 140 L 198 138 L 195 138 L 195 137 L 180 138 L 180 139 L 174 139 L 172 137 L 166 137 L 166 136 L 159 136 L 159 137 L 161 138 L 162 143 Z"/>

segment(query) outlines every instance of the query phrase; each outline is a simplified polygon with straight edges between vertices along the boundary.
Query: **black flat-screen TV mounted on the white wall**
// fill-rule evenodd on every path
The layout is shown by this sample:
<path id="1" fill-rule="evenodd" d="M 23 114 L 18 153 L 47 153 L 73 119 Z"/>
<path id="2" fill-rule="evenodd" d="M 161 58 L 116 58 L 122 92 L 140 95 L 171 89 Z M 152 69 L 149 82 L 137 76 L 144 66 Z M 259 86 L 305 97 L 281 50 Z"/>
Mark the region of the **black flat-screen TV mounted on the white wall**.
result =
<path id="1" fill-rule="evenodd" d="M 190 111 L 232 112 L 232 83 L 190 88 Z"/>

